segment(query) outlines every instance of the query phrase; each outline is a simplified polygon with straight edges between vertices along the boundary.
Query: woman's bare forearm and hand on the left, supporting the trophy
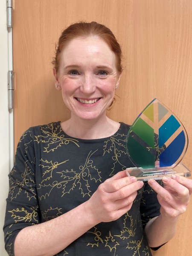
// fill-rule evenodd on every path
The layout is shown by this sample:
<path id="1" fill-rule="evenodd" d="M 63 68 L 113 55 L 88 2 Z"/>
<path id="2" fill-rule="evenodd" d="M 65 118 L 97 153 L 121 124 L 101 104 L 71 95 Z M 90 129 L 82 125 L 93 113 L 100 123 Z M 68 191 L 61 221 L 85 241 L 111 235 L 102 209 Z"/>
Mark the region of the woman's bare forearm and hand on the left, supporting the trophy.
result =
<path id="1" fill-rule="evenodd" d="M 60 252 L 94 225 L 125 214 L 142 186 L 135 177 L 119 172 L 102 183 L 87 202 L 55 219 L 22 229 L 15 239 L 15 256 L 26 255 L 26 251 L 28 256 Z"/>

